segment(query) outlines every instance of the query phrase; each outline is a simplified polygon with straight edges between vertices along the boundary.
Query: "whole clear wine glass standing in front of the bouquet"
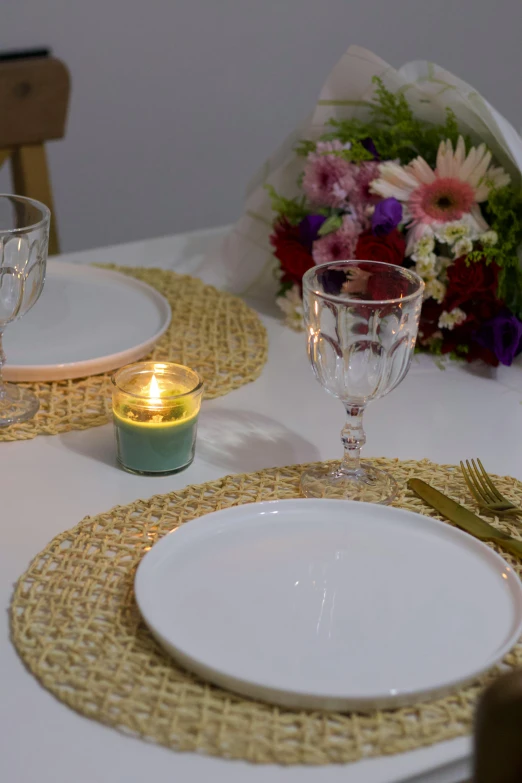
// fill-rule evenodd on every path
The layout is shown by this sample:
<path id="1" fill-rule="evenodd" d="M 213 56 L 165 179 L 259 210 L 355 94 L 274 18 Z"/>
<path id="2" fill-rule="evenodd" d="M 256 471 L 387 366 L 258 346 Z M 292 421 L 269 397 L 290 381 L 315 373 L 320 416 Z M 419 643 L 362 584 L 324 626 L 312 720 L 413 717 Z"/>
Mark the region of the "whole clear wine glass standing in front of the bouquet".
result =
<path id="1" fill-rule="evenodd" d="M 308 497 L 391 503 L 398 487 L 385 471 L 361 462 L 363 414 L 408 372 L 424 283 L 409 269 L 377 261 L 313 267 L 303 277 L 308 356 L 319 383 L 343 403 L 344 456 L 333 468 L 301 477 Z"/>

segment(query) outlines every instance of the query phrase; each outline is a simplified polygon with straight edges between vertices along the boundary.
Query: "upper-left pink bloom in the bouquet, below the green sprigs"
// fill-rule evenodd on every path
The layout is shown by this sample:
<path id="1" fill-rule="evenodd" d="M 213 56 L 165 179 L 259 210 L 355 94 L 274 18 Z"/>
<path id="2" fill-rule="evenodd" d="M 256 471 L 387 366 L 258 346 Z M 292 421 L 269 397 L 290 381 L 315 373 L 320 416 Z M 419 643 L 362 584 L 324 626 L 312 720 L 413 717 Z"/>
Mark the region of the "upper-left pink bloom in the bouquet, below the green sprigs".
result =
<path id="1" fill-rule="evenodd" d="M 342 145 L 337 142 L 339 149 Z M 320 143 L 320 152 L 337 150 L 335 142 Z M 303 190 L 312 204 L 338 208 L 346 204 L 355 187 L 352 164 L 337 155 L 308 155 L 303 177 Z"/>

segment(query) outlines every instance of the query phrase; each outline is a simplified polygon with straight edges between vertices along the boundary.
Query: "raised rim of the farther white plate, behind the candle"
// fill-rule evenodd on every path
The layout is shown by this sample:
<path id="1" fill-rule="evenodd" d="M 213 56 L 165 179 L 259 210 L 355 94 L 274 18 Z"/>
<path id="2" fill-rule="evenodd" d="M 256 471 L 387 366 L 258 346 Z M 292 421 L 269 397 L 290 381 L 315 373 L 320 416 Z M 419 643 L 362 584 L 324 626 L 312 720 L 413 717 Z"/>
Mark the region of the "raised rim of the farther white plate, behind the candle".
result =
<path id="1" fill-rule="evenodd" d="M 142 359 L 156 345 L 158 340 L 165 334 L 172 321 L 172 309 L 166 297 L 156 288 L 122 272 L 114 269 L 103 269 L 94 264 L 79 264 L 72 261 L 59 261 L 51 259 L 47 262 L 46 277 L 49 267 L 60 272 L 66 272 L 78 276 L 82 274 L 95 274 L 112 278 L 113 280 L 123 281 L 126 286 L 147 291 L 147 294 L 158 307 L 163 323 L 159 330 L 152 337 L 144 340 L 142 343 L 126 348 L 117 353 L 105 354 L 95 359 L 84 359 L 79 362 L 63 362 L 61 364 L 10 364 L 8 361 L 3 369 L 3 376 L 6 381 L 30 382 L 30 381 L 63 381 L 74 380 L 76 378 L 85 378 L 90 375 L 100 375 L 123 367 L 125 364 Z M 132 269 L 132 267 L 129 267 Z"/>

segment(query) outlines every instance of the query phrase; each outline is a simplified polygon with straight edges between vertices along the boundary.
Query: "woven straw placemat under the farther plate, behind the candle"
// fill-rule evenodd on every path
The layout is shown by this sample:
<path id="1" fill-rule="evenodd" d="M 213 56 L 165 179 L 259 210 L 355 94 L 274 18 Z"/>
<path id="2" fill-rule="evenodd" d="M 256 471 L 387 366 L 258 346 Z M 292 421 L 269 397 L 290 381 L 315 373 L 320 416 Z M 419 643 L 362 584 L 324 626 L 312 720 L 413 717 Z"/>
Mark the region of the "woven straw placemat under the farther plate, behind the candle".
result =
<path id="1" fill-rule="evenodd" d="M 143 280 L 169 301 L 170 327 L 148 358 L 197 370 L 205 382 L 206 399 L 221 397 L 259 377 L 268 353 L 265 327 L 237 296 L 164 269 L 105 268 Z M 106 424 L 111 418 L 110 377 L 105 373 L 73 381 L 20 384 L 37 395 L 40 410 L 30 421 L 0 429 L 0 441 Z"/>

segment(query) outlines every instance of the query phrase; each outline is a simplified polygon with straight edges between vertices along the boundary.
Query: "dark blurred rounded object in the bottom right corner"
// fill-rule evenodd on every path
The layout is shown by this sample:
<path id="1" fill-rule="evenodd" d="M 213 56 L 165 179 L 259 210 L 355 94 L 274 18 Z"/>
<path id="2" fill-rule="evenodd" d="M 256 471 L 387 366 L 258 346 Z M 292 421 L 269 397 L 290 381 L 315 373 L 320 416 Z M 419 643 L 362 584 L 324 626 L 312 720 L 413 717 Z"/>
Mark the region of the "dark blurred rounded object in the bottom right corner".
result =
<path id="1" fill-rule="evenodd" d="M 522 783 L 522 669 L 482 696 L 475 719 L 473 783 Z"/>

